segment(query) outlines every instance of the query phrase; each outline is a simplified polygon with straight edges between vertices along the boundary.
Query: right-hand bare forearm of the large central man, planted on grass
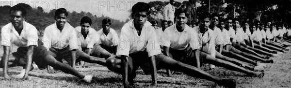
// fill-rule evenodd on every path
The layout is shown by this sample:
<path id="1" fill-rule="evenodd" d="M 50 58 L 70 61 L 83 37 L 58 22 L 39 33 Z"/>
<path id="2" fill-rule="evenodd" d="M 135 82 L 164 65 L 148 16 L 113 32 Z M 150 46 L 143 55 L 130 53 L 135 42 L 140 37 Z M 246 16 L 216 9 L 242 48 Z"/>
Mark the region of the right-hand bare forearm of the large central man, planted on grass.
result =
<path id="1" fill-rule="evenodd" d="M 149 57 L 150 58 L 150 67 L 151 67 L 151 76 L 152 76 L 152 83 L 151 86 L 152 87 L 156 87 L 157 86 L 157 68 L 156 68 L 156 59 L 155 56 Z"/>

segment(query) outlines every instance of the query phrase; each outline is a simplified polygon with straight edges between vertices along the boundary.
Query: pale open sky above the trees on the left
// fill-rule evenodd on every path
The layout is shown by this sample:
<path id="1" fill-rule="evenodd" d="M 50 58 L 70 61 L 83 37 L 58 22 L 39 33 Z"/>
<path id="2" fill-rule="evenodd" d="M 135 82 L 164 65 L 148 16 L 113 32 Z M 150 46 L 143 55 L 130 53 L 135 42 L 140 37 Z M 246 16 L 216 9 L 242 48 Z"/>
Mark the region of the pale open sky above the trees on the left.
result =
<path id="1" fill-rule="evenodd" d="M 26 3 L 32 8 L 42 7 L 45 12 L 52 9 L 65 8 L 69 12 L 90 12 L 97 16 L 108 16 L 113 19 L 125 21 L 129 19 L 129 10 L 137 2 L 150 2 L 155 0 L 0 0 L 0 6 L 14 6 L 17 3 Z M 169 1 L 169 0 L 160 0 Z M 185 0 L 175 0 L 183 2 Z"/>

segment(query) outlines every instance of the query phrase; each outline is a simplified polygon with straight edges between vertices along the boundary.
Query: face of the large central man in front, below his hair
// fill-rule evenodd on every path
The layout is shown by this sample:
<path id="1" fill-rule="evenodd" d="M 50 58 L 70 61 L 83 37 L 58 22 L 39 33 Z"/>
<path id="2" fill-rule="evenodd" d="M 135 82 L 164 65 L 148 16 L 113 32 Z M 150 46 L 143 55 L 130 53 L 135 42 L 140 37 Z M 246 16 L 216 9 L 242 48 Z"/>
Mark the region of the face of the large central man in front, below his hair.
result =
<path id="1" fill-rule="evenodd" d="M 136 12 L 133 15 L 133 23 L 136 27 L 142 28 L 147 20 L 146 12 Z"/>

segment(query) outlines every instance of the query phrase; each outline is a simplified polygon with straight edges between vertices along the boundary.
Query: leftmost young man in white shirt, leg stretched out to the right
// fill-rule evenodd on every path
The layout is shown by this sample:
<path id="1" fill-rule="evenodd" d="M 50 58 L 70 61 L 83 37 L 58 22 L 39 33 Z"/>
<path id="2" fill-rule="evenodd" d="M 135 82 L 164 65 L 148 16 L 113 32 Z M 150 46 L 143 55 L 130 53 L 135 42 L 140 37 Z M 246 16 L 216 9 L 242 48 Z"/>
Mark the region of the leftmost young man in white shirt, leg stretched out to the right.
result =
<path id="1" fill-rule="evenodd" d="M 21 63 L 26 64 L 26 71 L 22 79 L 28 79 L 28 73 L 31 70 L 30 66 L 32 61 L 34 61 L 41 68 L 46 65 L 50 65 L 54 68 L 59 68 L 66 73 L 75 75 L 83 79 L 85 82 L 91 82 L 92 76 L 82 75 L 72 67 L 57 61 L 49 54 L 46 47 L 42 45 L 42 42 L 38 41 L 36 28 L 24 21 L 24 16 L 26 15 L 24 8 L 16 5 L 10 9 L 10 15 L 10 17 L 12 17 L 12 23 L 7 24 L 3 27 L 3 29 L 1 29 L 1 45 L 4 47 L 4 55 L 2 60 L 4 60 L 3 71 L 5 79 L 11 79 L 11 77 L 7 75 L 7 62 L 9 59 L 8 56 L 11 42 L 12 44 L 16 44 L 16 46 L 19 46 L 17 51 L 13 53 L 16 58 L 16 63 L 19 62 L 20 65 L 23 65 Z M 57 19 L 58 18 L 56 18 L 56 20 Z M 26 62 L 21 62 L 21 60 L 26 60 Z"/>

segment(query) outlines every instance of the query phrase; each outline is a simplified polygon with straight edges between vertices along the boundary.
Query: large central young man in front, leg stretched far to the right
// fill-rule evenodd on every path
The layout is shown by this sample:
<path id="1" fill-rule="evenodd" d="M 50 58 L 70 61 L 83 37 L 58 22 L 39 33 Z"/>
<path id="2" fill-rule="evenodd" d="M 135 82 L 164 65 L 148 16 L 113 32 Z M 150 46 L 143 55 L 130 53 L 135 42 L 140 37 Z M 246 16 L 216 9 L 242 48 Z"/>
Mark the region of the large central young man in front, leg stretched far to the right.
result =
<path id="1" fill-rule="evenodd" d="M 138 2 L 132 6 L 131 10 L 133 19 L 129 20 L 121 29 L 120 40 L 123 42 L 120 42 L 116 53 L 120 57 L 109 58 L 106 61 L 109 70 L 122 74 L 124 87 L 129 87 L 129 82 L 133 83 L 136 76 L 135 71 L 141 67 L 145 73 L 151 73 L 151 87 L 157 86 L 157 69 L 166 68 L 210 80 L 220 86 L 235 88 L 236 82 L 233 79 L 218 78 L 194 66 L 164 56 L 160 45 L 156 42 L 158 38 L 155 29 L 146 21 L 149 15 L 149 5 Z M 179 18 L 181 19 L 181 17 Z"/>

